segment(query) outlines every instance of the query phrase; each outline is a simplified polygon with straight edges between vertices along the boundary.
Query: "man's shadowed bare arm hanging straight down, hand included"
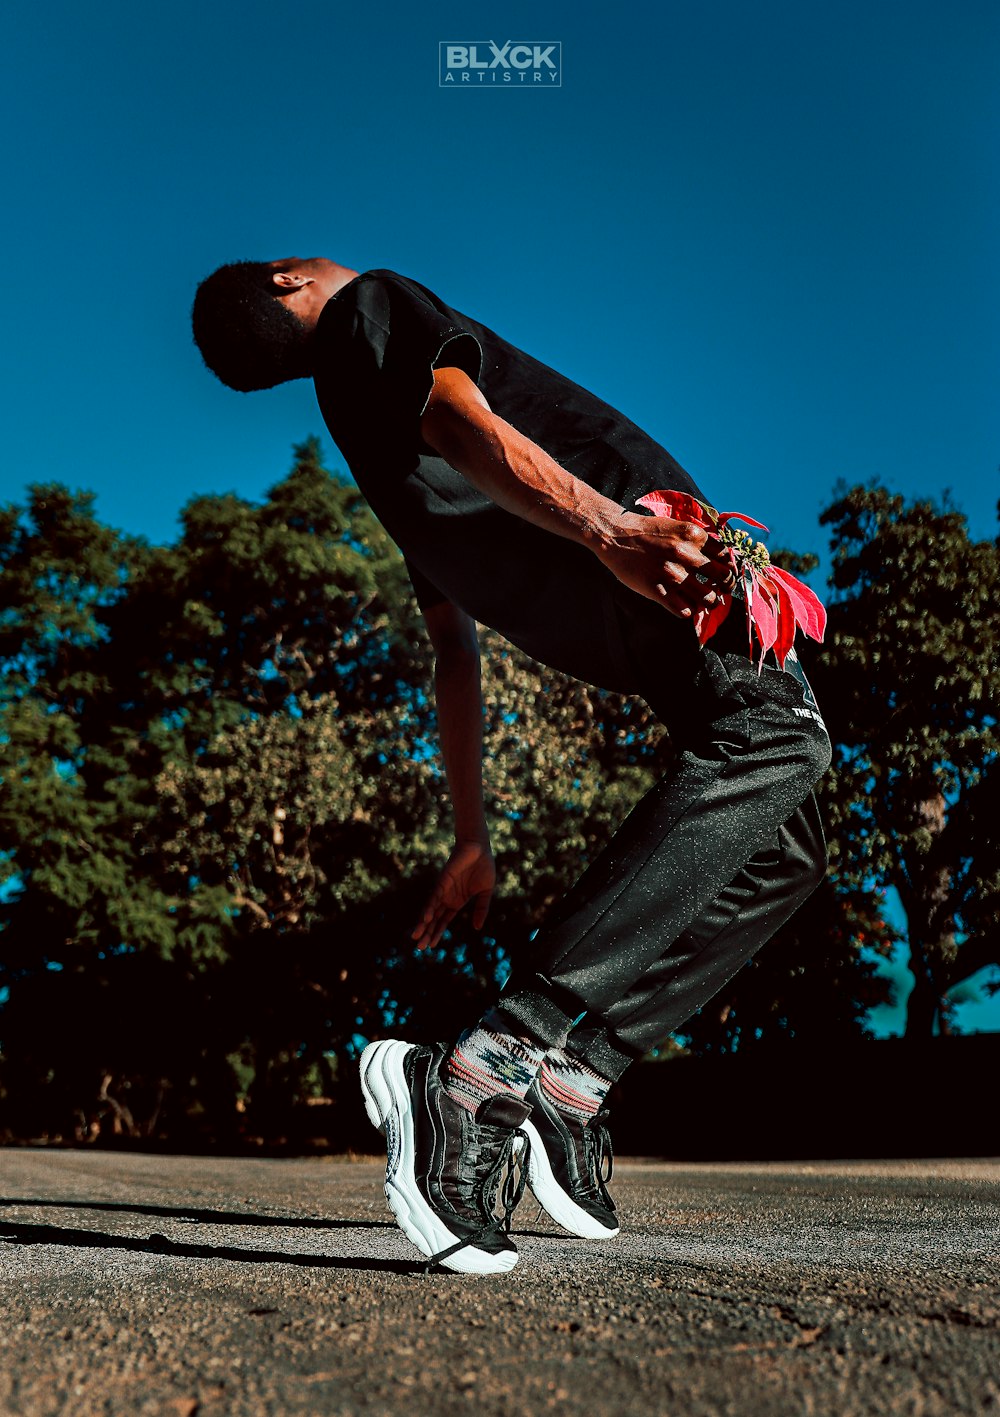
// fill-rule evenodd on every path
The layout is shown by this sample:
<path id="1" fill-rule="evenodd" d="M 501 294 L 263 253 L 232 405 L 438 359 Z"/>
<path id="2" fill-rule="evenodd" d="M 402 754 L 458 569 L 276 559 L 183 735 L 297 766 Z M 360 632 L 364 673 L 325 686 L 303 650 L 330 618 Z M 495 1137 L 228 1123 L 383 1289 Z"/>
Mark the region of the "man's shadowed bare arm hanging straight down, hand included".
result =
<path id="1" fill-rule="evenodd" d="M 424 612 L 435 650 L 433 687 L 445 777 L 455 815 L 455 849 L 412 932 L 422 949 L 438 944 L 455 915 L 473 901 L 480 930 L 496 884 L 483 808 L 483 699 L 476 622 L 449 601 Z"/>

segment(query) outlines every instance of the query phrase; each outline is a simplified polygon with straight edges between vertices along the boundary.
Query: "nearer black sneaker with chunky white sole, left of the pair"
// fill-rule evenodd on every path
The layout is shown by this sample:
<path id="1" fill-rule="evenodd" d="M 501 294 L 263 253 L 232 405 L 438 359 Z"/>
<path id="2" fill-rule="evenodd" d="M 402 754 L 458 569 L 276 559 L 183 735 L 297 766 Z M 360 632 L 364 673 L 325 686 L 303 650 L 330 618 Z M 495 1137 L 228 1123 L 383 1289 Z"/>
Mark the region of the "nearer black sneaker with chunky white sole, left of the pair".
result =
<path id="1" fill-rule="evenodd" d="M 530 1107 L 493 1097 L 473 1117 L 445 1091 L 441 1044 L 385 1039 L 361 1054 L 361 1093 L 385 1132 L 385 1199 L 401 1230 L 431 1264 L 462 1274 L 501 1274 L 517 1264 L 510 1216 L 524 1193 Z M 520 1162 L 517 1151 L 521 1152 Z M 501 1189 L 503 1214 L 494 1213 Z"/>

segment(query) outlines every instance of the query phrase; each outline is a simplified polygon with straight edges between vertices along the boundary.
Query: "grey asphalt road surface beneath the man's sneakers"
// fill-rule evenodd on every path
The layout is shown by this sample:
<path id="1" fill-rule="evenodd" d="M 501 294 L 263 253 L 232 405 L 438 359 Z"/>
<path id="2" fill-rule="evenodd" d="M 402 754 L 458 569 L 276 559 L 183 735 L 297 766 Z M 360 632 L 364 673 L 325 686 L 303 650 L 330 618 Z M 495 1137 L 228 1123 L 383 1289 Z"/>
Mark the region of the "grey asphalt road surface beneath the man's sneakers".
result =
<path id="1" fill-rule="evenodd" d="M 0 1152 L 0 1411 L 997 1413 L 1000 1163 L 622 1163 L 425 1274 L 370 1161 Z"/>

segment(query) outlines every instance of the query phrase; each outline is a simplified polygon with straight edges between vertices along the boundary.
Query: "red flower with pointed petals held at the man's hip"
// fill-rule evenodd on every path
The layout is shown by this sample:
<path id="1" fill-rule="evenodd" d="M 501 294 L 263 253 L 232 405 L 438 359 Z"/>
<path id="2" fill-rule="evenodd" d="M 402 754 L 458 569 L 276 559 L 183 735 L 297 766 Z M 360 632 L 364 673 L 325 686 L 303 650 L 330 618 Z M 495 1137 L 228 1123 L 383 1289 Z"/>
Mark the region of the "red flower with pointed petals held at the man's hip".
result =
<path id="1" fill-rule="evenodd" d="M 746 635 L 751 656 L 755 638 L 761 646 L 759 669 L 763 667 L 763 656 L 769 649 L 773 649 L 778 663 L 785 667 L 796 629 L 810 639 L 823 639 L 826 611 L 819 597 L 797 577 L 779 565 L 772 565 L 762 541 L 754 541 L 745 531 L 729 530 L 729 521 L 746 521 L 748 526 L 766 531 L 762 521 L 755 521 L 742 512 L 717 512 L 687 492 L 649 492 L 644 497 L 639 497 L 636 506 L 646 507 L 657 517 L 693 521 L 694 526 L 705 527 L 718 536 L 742 584 Z M 722 592 L 715 605 L 697 612 L 694 632 L 700 643 L 704 645 L 712 638 L 731 606 L 732 595 Z"/>

